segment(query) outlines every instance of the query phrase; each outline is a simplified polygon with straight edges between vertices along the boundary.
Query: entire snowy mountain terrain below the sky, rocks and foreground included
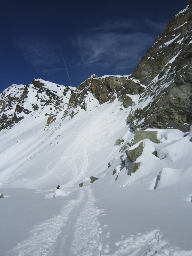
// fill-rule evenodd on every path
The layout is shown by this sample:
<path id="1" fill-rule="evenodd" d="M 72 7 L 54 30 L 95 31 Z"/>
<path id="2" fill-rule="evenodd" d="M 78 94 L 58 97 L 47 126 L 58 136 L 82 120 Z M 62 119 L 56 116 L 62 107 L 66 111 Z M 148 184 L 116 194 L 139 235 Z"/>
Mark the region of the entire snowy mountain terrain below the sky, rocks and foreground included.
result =
<path id="1" fill-rule="evenodd" d="M 0 255 L 192 255 L 188 2 L 132 75 L 0 95 Z"/>

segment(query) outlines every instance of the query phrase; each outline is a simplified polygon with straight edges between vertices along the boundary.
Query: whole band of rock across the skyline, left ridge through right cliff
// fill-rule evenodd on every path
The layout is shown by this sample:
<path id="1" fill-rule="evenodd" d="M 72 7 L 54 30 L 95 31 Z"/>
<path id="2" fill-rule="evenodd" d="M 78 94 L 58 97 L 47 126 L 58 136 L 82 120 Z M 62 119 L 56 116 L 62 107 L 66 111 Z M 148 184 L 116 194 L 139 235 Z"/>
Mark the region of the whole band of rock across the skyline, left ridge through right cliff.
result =
<path id="1" fill-rule="evenodd" d="M 39 114 L 46 106 L 45 125 L 58 116 L 73 118 L 80 109 L 86 111 L 94 97 L 99 104 L 118 98 L 122 108 L 129 110 L 126 122 L 134 130 L 173 127 L 188 131 L 192 124 L 192 3 L 187 2 L 129 76 L 92 75 L 77 89 L 41 79 L 9 87 L 0 95 L 0 129 L 31 113 Z"/>

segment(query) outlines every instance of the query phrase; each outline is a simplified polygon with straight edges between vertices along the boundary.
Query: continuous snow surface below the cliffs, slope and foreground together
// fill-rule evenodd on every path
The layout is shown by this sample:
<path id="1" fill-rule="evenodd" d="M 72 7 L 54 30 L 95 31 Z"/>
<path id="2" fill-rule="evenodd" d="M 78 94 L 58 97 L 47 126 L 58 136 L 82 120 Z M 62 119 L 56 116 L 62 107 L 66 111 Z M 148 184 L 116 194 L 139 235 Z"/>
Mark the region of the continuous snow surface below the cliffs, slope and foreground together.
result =
<path id="1" fill-rule="evenodd" d="M 73 119 L 45 126 L 31 114 L 0 132 L 0 255 L 191 256 L 190 131 L 156 129 L 160 143 L 143 140 L 130 176 L 120 160 L 130 108 L 87 104 Z"/>

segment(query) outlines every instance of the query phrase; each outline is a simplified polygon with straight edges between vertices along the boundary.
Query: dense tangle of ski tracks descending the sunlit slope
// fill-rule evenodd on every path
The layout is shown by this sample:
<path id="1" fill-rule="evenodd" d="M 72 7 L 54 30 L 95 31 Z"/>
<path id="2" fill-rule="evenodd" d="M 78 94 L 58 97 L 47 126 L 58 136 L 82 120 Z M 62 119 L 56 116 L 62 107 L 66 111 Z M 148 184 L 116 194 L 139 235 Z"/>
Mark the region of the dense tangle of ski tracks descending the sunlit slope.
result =
<path id="1" fill-rule="evenodd" d="M 91 126 L 88 126 L 83 133 L 79 133 L 79 136 L 67 149 L 67 156 L 62 156 L 63 163 L 65 163 L 71 170 L 71 177 L 68 183 L 65 184 L 66 188 L 73 186 L 73 184 L 84 178 L 86 175 L 89 175 L 93 171 L 89 170 L 90 156 L 92 153 L 101 150 L 112 142 L 110 136 L 112 136 L 114 130 L 116 130 L 119 118 L 116 118 L 116 122 L 114 122 L 113 119 L 113 123 L 111 123 L 111 118 L 108 114 L 104 114 L 97 110 L 94 110 L 94 112 L 97 116 L 91 120 Z M 102 125 L 105 120 L 111 123 L 110 127 L 112 129 L 110 129 L 110 131 L 106 130 L 105 126 Z M 76 133 L 75 130 L 70 132 Z M 97 134 L 95 134 L 95 132 Z M 95 138 L 97 138 L 97 141 Z M 116 148 L 114 150 L 116 150 Z"/>

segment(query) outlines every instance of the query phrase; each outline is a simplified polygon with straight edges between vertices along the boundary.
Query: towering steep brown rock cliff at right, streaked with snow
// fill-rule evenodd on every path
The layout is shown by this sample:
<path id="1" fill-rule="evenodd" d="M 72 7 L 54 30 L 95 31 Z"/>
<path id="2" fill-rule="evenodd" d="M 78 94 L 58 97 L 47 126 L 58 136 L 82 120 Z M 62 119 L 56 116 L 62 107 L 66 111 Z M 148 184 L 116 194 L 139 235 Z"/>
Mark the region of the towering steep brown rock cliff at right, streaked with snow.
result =
<path id="1" fill-rule="evenodd" d="M 191 6 L 191 1 L 188 1 Z M 132 128 L 189 130 L 192 123 L 192 10 L 177 13 L 137 65 L 133 77 L 146 86 Z M 151 97 L 147 105 L 142 100 Z M 144 110 L 144 111 L 143 111 Z M 143 122 L 138 123 L 143 119 Z"/>

